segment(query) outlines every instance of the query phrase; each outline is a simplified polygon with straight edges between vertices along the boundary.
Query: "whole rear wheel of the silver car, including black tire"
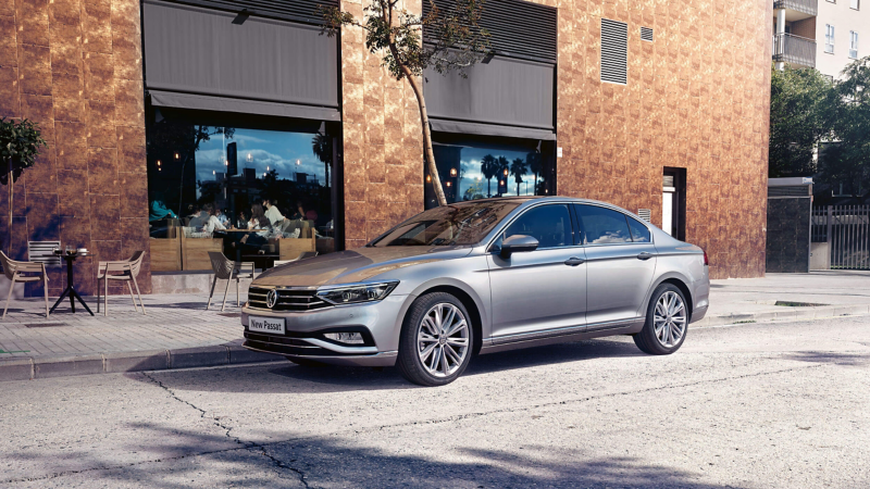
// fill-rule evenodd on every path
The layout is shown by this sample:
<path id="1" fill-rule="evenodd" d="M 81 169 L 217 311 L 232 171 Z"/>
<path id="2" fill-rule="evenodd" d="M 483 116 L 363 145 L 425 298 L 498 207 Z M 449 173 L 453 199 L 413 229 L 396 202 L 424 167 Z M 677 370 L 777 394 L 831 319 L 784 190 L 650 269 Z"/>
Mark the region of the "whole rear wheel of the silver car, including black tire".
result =
<path id="1" fill-rule="evenodd" d="M 672 304 L 671 301 L 674 300 L 675 303 Z M 683 292 L 673 284 L 661 284 L 649 299 L 644 328 L 633 335 L 634 344 L 650 355 L 669 355 L 685 341 L 688 321 L 688 306 Z M 658 329 L 657 323 L 660 325 Z"/>

